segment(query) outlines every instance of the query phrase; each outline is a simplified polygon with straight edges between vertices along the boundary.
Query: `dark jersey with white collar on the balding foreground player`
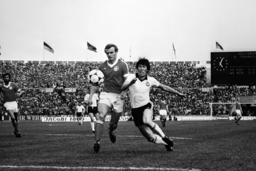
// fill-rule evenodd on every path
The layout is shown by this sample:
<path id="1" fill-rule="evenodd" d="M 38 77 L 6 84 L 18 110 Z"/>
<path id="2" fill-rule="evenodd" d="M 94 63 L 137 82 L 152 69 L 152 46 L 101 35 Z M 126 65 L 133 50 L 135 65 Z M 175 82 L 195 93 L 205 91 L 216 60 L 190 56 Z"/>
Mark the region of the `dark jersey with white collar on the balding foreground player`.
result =
<path id="1" fill-rule="evenodd" d="M 121 59 L 114 64 L 105 61 L 99 70 L 104 74 L 104 90 L 106 92 L 121 93 L 124 78 L 129 75 L 128 65 Z"/>

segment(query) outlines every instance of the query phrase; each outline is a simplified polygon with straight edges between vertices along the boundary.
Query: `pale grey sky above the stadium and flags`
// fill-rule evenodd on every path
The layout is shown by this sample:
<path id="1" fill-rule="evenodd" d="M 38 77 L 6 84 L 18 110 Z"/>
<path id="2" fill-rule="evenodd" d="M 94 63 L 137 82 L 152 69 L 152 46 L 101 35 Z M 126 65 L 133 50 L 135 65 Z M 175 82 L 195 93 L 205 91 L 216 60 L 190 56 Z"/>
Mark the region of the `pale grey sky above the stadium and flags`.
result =
<path id="1" fill-rule="evenodd" d="M 105 61 L 113 43 L 125 61 L 206 62 L 223 52 L 216 41 L 224 52 L 256 51 L 255 7 L 255 0 L 0 0 L 0 60 Z"/>

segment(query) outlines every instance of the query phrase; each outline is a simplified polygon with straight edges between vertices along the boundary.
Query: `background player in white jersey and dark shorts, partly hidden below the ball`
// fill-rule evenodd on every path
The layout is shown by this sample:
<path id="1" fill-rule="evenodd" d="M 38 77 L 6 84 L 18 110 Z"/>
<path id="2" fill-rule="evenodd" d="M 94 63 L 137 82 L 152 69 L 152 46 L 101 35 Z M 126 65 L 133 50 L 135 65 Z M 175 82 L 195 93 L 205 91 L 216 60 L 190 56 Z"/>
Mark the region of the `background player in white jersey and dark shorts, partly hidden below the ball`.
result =
<path id="1" fill-rule="evenodd" d="M 90 97 L 90 89 L 91 87 L 88 87 L 88 93 L 86 94 L 86 96 L 84 97 L 84 103 L 86 103 L 88 105 L 88 99 Z M 93 94 L 92 96 L 92 104 L 89 106 L 88 105 L 88 114 L 91 118 L 91 129 L 92 129 L 92 133 L 95 133 L 95 128 L 94 128 L 94 116 L 98 113 L 98 108 L 97 108 L 97 104 L 99 101 L 99 97 L 96 93 Z"/>

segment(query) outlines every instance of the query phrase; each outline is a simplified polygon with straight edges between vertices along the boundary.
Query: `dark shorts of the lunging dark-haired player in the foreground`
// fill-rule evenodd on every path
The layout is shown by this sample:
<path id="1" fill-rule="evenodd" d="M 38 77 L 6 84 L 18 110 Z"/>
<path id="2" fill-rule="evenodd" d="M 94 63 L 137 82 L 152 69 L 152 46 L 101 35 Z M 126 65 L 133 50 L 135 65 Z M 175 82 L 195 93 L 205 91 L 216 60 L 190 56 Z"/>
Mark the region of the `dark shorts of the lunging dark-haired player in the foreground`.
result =
<path id="1" fill-rule="evenodd" d="M 133 117 L 133 121 L 134 121 L 135 126 L 144 125 L 144 123 L 143 123 L 143 112 L 144 112 L 145 109 L 151 109 L 152 110 L 152 104 L 149 102 L 147 105 L 132 109 L 132 117 Z M 152 112 L 152 115 L 153 115 L 153 112 Z"/>

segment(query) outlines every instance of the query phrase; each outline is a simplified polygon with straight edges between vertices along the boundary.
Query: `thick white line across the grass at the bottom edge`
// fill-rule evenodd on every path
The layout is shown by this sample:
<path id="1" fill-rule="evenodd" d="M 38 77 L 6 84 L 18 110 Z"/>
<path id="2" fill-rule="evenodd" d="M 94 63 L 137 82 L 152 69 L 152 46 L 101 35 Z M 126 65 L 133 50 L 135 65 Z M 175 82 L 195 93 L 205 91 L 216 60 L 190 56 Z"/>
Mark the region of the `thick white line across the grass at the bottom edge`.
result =
<path id="1" fill-rule="evenodd" d="M 181 170 L 181 171 L 200 171 L 200 169 L 183 169 L 183 168 L 159 168 L 159 167 L 69 167 L 69 166 L 10 166 L 3 165 L 0 168 L 16 169 L 103 169 L 103 170 Z"/>

